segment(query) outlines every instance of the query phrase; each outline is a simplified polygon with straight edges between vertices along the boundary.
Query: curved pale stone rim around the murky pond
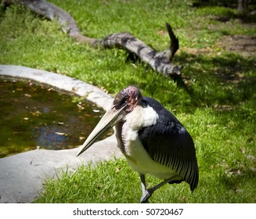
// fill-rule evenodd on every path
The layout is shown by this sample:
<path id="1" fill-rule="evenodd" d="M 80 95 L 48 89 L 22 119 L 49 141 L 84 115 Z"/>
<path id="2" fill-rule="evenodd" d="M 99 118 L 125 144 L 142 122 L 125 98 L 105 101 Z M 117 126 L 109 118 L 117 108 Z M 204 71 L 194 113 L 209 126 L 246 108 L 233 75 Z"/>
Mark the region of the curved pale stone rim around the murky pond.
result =
<path id="1" fill-rule="evenodd" d="M 85 96 L 104 110 L 110 109 L 113 98 L 101 89 L 72 77 L 35 70 L 25 66 L 0 65 L 0 75 L 31 79 L 67 92 Z M 121 156 L 114 135 L 96 142 L 77 157 L 78 148 L 63 150 L 36 149 L 0 159 L 0 203 L 31 203 L 39 195 L 42 184 L 59 169 L 77 169 L 81 163 L 98 162 Z"/>

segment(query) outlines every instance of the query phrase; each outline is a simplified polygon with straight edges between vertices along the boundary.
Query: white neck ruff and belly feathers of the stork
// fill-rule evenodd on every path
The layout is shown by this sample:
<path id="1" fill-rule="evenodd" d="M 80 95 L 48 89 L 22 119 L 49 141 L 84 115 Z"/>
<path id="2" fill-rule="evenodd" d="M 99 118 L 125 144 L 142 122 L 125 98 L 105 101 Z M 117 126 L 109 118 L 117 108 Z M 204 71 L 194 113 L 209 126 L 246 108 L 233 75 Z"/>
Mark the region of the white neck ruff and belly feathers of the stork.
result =
<path id="1" fill-rule="evenodd" d="M 136 106 L 132 113 L 124 118 L 126 122 L 122 130 L 115 128 L 117 144 L 134 171 L 139 172 L 139 174 L 151 174 L 157 178 L 168 179 L 176 174 L 175 171 L 152 160 L 138 135 L 139 128 L 156 124 L 157 119 L 157 113 L 150 106 L 146 108 Z M 125 138 L 120 139 L 119 136 L 121 135 L 118 135 L 118 131 L 121 131 L 121 135 Z M 180 179 L 178 175 L 177 179 Z"/>

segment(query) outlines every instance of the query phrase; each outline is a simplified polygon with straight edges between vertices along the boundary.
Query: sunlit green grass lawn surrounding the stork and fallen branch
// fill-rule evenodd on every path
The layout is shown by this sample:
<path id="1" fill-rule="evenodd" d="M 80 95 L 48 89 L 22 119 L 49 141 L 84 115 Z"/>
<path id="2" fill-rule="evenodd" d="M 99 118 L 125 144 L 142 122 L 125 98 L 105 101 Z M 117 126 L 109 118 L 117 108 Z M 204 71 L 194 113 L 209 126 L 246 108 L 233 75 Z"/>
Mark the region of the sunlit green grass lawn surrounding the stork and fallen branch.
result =
<path id="1" fill-rule="evenodd" d="M 193 194 L 186 183 L 165 185 L 151 202 L 256 203 L 256 60 L 217 43 L 223 36 L 253 36 L 255 23 L 243 23 L 236 9 L 193 7 L 186 0 L 51 2 L 67 10 L 89 37 L 129 31 L 159 51 L 169 45 L 165 22 L 171 23 L 180 41 L 173 63 L 184 66 L 182 80 L 132 63 L 121 49 L 78 44 L 58 23 L 16 5 L 0 8 L 1 64 L 66 74 L 113 95 L 135 84 L 171 110 L 193 136 L 200 181 Z M 215 16 L 229 20 L 223 23 Z M 147 179 L 150 185 L 159 182 Z M 117 159 L 78 167 L 74 173 L 59 172 L 58 178 L 46 181 L 37 202 L 138 203 L 140 196 L 138 174 Z"/>

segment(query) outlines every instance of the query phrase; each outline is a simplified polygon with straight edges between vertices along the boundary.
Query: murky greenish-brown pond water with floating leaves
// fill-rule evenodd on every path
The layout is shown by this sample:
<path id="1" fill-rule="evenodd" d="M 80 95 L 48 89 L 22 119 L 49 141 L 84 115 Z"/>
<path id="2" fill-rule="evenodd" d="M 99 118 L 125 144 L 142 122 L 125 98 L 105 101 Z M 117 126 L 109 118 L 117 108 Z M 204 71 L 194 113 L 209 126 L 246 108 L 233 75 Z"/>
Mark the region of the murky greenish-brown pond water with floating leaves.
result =
<path id="1" fill-rule="evenodd" d="M 78 147 L 104 113 L 85 98 L 34 81 L 0 77 L 0 89 L 0 158 Z"/>

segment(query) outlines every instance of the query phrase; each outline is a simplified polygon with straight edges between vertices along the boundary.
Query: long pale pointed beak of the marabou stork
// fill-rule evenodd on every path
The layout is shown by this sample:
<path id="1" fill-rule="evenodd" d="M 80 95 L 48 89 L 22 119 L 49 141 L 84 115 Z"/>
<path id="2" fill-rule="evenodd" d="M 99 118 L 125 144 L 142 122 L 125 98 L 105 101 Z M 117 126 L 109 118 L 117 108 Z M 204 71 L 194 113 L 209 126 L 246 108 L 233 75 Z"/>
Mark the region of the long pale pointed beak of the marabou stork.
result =
<path id="1" fill-rule="evenodd" d="M 77 156 L 79 156 L 81 153 L 84 153 L 85 150 L 88 149 L 96 141 L 96 139 L 103 135 L 103 133 L 110 127 L 114 127 L 114 125 L 117 124 L 117 122 L 125 116 L 123 110 L 124 107 L 119 110 L 116 110 L 114 107 L 112 107 L 110 110 L 108 110 L 102 119 L 99 120 L 99 123 L 93 129 L 88 138 L 85 140 L 85 143 L 81 145 L 81 149 L 78 151 Z"/>

